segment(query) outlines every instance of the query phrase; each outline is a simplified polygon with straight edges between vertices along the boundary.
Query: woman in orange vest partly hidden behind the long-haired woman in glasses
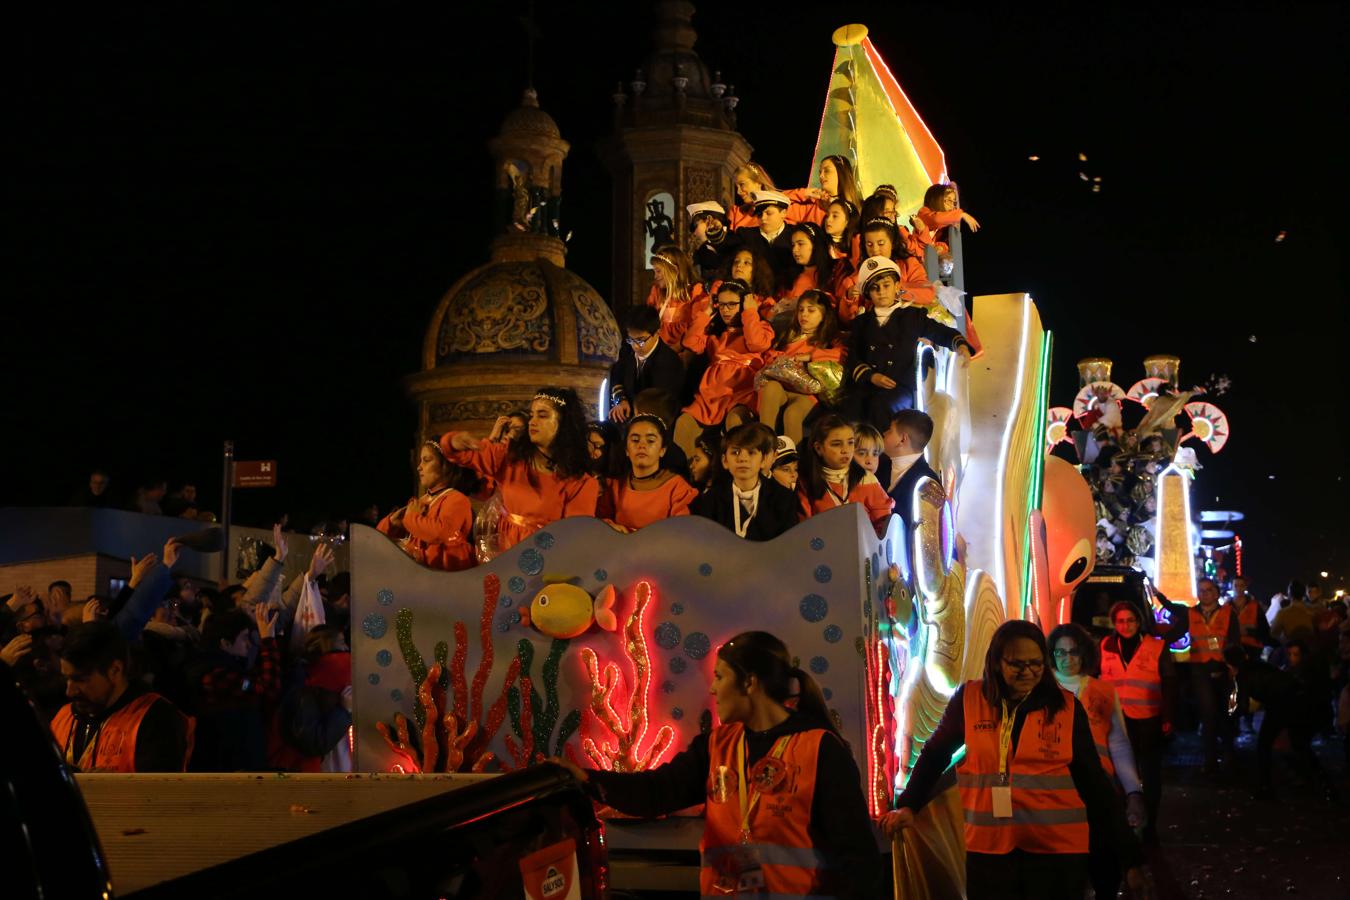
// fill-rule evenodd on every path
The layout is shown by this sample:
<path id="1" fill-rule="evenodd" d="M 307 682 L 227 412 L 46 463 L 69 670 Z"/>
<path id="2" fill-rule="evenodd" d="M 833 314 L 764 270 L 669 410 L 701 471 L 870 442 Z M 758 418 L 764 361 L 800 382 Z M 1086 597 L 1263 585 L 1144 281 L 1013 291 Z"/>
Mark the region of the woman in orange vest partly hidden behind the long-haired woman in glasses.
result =
<path id="1" fill-rule="evenodd" d="M 1125 811 L 1130 827 L 1142 828 L 1149 819 L 1143 803 L 1143 787 L 1134 768 L 1134 750 L 1125 730 L 1120 699 L 1110 681 L 1095 679 L 1088 672 L 1096 669 L 1096 642 L 1081 625 L 1058 625 L 1050 631 L 1050 657 L 1054 660 L 1054 680 L 1072 694 L 1088 714 L 1092 743 L 1108 777 L 1125 791 Z M 1114 897 L 1120 889 L 1120 864 L 1108 846 L 1089 841 L 1088 874 L 1099 897 Z"/>

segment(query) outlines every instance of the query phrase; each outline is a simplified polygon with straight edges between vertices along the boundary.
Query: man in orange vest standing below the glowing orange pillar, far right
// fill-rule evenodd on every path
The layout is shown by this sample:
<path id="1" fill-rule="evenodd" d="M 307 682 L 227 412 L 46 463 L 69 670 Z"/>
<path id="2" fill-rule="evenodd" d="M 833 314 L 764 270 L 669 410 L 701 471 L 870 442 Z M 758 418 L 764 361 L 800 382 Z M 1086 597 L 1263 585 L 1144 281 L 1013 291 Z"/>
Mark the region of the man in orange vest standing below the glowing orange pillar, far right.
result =
<path id="1" fill-rule="evenodd" d="M 1228 694 L 1233 679 L 1223 661 L 1223 650 L 1239 646 L 1238 613 L 1231 606 L 1219 604 L 1219 586 L 1203 578 L 1196 583 L 1199 606 L 1191 610 L 1191 660 L 1185 663 L 1191 685 L 1191 702 L 1200 718 L 1204 746 L 1204 772 L 1212 775 L 1219 766 L 1219 743 L 1233 756 L 1233 734 L 1228 729 Z"/>

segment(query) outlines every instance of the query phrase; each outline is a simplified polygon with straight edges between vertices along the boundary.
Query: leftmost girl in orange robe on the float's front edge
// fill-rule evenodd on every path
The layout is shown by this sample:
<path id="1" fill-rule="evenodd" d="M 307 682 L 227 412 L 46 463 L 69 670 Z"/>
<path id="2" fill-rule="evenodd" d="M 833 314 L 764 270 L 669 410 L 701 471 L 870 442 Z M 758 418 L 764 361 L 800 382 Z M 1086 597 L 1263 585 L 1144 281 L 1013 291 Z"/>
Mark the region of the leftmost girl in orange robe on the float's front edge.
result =
<path id="1" fill-rule="evenodd" d="M 393 510 L 375 528 L 398 542 L 404 553 L 423 565 L 458 572 L 474 565 L 474 510 L 466 487 L 474 479 L 446 459 L 436 441 L 425 441 L 417 456 L 414 497 Z"/>

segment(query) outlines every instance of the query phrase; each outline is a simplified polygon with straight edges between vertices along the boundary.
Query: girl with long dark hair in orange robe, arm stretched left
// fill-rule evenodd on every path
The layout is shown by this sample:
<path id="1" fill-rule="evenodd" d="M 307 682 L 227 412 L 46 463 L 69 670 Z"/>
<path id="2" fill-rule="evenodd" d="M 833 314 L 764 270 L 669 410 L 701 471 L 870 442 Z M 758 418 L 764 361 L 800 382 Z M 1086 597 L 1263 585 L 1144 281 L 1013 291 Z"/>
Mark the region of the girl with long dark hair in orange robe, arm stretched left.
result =
<path id="1" fill-rule="evenodd" d="M 599 484 L 587 471 L 586 414 L 570 387 L 541 387 L 529 402 L 529 424 L 508 444 L 467 432 L 440 439 L 446 459 L 501 486 L 506 514 L 500 548 L 506 551 L 549 522 L 594 515 Z"/>

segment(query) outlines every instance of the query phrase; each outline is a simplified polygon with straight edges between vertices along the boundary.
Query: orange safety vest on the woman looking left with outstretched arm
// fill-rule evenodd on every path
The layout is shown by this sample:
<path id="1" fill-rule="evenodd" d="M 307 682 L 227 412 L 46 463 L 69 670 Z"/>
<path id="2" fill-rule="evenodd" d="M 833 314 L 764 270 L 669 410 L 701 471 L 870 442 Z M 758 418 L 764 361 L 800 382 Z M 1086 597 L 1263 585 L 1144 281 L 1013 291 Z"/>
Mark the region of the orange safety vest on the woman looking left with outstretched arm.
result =
<path id="1" fill-rule="evenodd" d="M 707 741 L 707 804 L 699 842 L 703 896 L 736 893 L 741 873 L 757 866 L 770 896 L 829 895 L 826 854 L 811 843 L 811 799 L 824 729 L 784 735 L 755 765 L 744 765 L 744 729 L 721 725 Z M 742 780 L 744 779 L 744 780 Z M 748 837 L 742 834 L 749 810 Z"/>

